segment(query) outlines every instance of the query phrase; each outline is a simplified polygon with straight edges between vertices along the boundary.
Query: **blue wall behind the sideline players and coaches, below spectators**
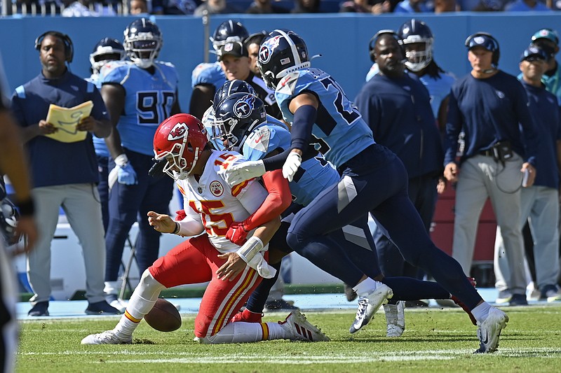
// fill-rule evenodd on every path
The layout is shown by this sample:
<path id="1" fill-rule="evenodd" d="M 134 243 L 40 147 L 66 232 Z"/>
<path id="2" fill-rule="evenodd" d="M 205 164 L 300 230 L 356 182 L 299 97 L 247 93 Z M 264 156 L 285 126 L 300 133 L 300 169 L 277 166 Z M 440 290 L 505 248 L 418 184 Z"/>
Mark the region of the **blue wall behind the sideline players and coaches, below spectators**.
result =
<path id="1" fill-rule="evenodd" d="M 288 28 L 297 31 L 308 44 L 310 55 L 321 54 L 313 66 L 324 69 L 336 78 L 353 99 L 364 83 L 372 62 L 368 41 L 379 29 L 396 29 L 410 17 L 401 15 L 356 15 L 325 13 L 321 15 L 229 15 L 210 19 L 210 34 L 229 17 L 239 20 L 251 32 L 262 29 Z M 518 74 L 520 53 L 530 36 L 541 27 L 561 31 L 561 13 L 543 15 L 527 13 L 455 13 L 418 15 L 435 35 L 435 60 L 456 76 L 468 73 L 464 41 L 475 31 L 488 31 L 501 45 L 499 66 Z M 74 62 L 71 69 L 79 76 L 90 75 L 88 60 L 93 45 L 104 36 L 123 39 L 123 29 L 135 17 L 7 17 L 0 19 L 0 51 L 9 83 L 9 92 L 36 76 L 41 66 L 34 50 L 36 36 L 49 29 L 62 31 L 74 41 Z M 191 71 L 194 66 L 214 55 L 208 55 L 210 44 L 205 38 L 201 18 L 191 16 L 153 17 L 164 36 L 161 59 L 173 62 L 180 73 L 180 104 L 189 108 Z"/>

